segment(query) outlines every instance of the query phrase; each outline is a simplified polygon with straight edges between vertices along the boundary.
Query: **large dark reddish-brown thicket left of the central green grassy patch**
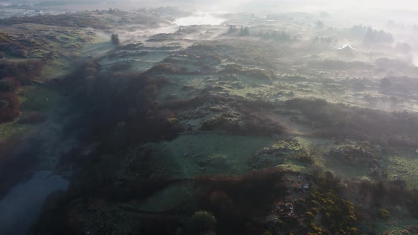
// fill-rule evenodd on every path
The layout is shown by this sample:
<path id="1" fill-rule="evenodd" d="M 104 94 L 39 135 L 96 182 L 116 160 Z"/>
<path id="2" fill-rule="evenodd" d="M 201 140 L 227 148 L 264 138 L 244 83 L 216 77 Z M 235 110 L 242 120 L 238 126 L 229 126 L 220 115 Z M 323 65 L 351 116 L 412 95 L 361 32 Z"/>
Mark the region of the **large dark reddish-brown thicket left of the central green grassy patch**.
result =
<path id="1" fill-rule="evenodd" d="M 101 137 L 106 148 L 116 150 L 131 144 L 172 139 L 181 132 L 181 125 L 171 119 L 174 114 L 156 100 L 159 87 L 169 83 L 169 79 L 137 72 L 98 72 L 91 79 L 86 76 L 86 68 L 101 69 L 94 60 L 81 64 L 64 79 L 63 88 L 72 94 L 79 108 L 85 110 L 84 121 L 89 133 Z M 108 110 L 112 110 L 113 115 L 106 115 Z M 115 142 L 115 134 L 109 133 L 115 133 L 120 122 L 125 122 L 125 127 L 118 132 L 120 141 Z"/>

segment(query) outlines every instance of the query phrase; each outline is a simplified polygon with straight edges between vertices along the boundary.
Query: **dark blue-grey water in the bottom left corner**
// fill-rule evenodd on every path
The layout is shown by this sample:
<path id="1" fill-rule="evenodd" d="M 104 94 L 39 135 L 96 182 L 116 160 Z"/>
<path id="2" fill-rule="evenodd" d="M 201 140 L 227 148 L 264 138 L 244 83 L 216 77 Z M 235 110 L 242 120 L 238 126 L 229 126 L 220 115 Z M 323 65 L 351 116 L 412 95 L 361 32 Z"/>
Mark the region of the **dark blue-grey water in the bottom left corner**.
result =
<path id="1" fill-rule="evenodd" d="M 25 183 L 12 188 L 0 200 L 0 234 L 23 235 L 38 218 L 47 195 L 56 190 L 67 190 L 68 181 L 51 176 L 50 171 L 38 171 Z"/>

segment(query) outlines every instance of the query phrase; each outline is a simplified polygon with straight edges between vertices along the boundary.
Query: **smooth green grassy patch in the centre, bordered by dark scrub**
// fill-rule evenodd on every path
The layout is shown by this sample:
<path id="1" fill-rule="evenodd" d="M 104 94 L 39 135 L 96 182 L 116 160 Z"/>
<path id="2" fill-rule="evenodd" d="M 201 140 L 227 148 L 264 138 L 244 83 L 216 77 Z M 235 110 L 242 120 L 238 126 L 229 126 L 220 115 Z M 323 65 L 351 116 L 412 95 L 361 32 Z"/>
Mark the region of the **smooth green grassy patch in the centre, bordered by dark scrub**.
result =
<path id="1" fill-rule="evenodd" d="M 181 135 L 171 142 L 161 142 L 155 149 L 155 171 L 172 178 L 193 178 L 202 174 L 239 175 L 251 171 L 247 164 L 254 152 L 271 144 L 269 137 L 222 134 Z M 208 159 L 210 164 L 206 163 Z"/>

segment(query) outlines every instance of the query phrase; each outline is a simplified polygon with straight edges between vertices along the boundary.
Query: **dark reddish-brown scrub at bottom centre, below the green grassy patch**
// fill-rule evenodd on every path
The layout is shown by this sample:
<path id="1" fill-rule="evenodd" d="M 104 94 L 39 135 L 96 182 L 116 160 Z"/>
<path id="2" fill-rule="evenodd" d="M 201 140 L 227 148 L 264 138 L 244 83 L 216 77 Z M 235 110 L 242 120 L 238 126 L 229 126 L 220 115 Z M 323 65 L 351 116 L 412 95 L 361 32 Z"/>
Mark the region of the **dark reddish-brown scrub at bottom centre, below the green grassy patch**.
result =
<path id="1" fill-rule="evenodd" d="M 213 211 L 225 234 L 259 234 L 242 227 L 254 217 L 271 212 L 273 202 L 283 198 L 286 184 L 278 168 L 254 170 L 244 176 L 200 176 L 196 197 L 203 210 Z"/>

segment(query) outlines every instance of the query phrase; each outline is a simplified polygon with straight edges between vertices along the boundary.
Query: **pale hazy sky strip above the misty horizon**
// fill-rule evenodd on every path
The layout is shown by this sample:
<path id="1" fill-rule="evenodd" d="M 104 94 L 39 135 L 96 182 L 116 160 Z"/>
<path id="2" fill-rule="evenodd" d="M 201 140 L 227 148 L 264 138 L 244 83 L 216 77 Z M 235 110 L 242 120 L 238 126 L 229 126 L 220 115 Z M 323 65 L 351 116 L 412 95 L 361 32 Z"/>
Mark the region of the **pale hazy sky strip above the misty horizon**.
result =
<path id="1" fill-rule="evenodd" d="M 17 1 L 52 1 L 52 0 L 0 0 L 1 2 L 16 3 Z M 392 14 L 418 12 L 418 0 L 53 0 L 69 2 L 118 2 L 124 6 L 132 4 L 134 8 L 157 7 L 157 6 L 178 6 L 186 11 L 229 11 L 229 12 L 283 12 L 283 11 L 305 11 L 320 12 L 327 11 L 332 14 L 356 16 L 355 14 L 379 13 L 392 17 Z M 100 5 L 100 4 L 99 4 Z M 103 5 L 104 6 L 104 5 Z M 107 5 L 106 5 L 107 6 Z M 95 6 L 96 7 L 96 6 Z M 411 21 L 417 21 L 418 14 L 409 16 Z"/>

